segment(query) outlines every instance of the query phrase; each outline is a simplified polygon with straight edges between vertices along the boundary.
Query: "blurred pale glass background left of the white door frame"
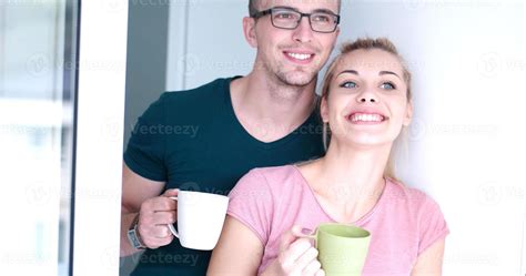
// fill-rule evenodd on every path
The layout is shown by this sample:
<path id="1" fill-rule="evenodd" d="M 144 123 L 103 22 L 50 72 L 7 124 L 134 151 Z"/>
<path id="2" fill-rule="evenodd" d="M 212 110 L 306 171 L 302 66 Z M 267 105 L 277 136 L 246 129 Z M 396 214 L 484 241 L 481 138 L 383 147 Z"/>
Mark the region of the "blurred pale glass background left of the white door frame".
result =
<path id="1" fill-rule="evenodd" d="M 0 2 L 0 274 L 70 263 L 73 1 Z"/>

